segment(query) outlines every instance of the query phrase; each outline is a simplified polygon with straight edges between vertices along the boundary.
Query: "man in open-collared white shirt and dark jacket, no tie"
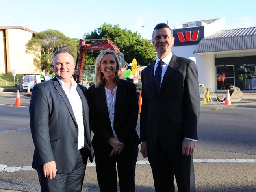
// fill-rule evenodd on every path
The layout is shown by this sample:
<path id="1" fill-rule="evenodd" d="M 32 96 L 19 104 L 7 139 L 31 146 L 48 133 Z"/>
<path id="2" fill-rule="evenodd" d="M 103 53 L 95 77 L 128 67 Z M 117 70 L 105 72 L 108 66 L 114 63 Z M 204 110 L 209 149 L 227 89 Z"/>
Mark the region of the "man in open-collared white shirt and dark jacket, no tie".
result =
<path id="1" fill-rule="evenodd" d="M 30 129 L 41 191 L 80 192 L 87 159 L 93 161 L 87 89 L 71 77 L 74 57 L 54 53 L 56 77 L 35 85 L 30 100 Z"/>

